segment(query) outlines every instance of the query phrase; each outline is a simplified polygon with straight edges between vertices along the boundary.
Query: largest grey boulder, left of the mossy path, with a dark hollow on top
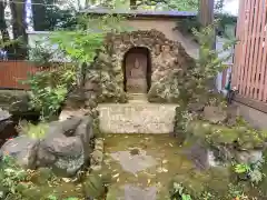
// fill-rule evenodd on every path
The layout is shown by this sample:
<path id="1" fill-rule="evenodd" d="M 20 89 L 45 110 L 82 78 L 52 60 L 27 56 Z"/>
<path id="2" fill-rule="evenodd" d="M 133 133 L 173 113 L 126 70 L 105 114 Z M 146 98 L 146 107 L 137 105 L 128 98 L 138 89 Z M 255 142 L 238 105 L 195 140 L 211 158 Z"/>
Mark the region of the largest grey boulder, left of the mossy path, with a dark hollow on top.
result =
<path id="1" fill-rule="evenodd" d="M 88 161 L 89 143 L 93 137 L 90 117 L 52 122 L 40 141 L 38 167 L 51 166 L 62 176 L 73 176 Z"/>

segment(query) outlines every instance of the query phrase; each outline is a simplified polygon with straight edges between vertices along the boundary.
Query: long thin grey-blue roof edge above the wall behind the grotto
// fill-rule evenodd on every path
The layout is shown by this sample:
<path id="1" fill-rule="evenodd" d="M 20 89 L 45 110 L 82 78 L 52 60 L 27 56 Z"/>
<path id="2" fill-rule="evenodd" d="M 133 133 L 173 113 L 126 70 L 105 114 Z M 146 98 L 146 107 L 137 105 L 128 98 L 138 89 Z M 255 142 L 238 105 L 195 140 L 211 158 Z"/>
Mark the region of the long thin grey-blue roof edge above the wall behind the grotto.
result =
<path id="1" fill-rule="evenodd" d="M 187 18 L 195 17 L 197 12 L 194 11 L 151 11 L 151 10 L 111 10 L 107 8 L 89 8 L 80 11 L 81 13 L 91 14 L 122 14 L 132 17 L 155 17 L 155 18 Z"/>

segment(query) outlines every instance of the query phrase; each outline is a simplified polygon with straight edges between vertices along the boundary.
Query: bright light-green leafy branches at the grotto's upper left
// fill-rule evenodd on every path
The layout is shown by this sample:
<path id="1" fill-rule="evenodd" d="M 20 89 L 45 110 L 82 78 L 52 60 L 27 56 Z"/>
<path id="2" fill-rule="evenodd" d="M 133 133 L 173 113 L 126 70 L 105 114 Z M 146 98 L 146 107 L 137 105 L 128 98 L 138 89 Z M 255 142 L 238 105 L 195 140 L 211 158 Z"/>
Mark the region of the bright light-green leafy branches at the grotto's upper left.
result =
<path id="1" fill-rule="evenodd" d="M 126 31 L 121 27 L 122 17 L 107 14 L 100 18 L 79 18 L 76 31 L 58 31 L 50 36 L 52 43 L 59 44 L 72 61 L 91 63 L 103 44 L 107 33 Z"/>

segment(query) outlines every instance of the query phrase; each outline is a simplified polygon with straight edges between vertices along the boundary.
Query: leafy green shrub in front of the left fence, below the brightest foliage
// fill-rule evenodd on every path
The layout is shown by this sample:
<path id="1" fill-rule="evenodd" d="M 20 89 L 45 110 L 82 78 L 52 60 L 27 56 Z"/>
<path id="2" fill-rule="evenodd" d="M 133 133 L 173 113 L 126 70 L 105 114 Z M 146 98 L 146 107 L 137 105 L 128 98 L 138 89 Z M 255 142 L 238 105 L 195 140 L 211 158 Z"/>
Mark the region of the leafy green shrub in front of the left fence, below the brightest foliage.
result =
<path id="1" fill-rule="evenodd" d="M 31 88 L 30 106 L 40 111 L 44 120 L 49 120 L 59 111 L 68 90 L 76 79 L 73 66 L 59 67 L 56 70 L 40 71 L 29 74 L 23 81 Z"/>

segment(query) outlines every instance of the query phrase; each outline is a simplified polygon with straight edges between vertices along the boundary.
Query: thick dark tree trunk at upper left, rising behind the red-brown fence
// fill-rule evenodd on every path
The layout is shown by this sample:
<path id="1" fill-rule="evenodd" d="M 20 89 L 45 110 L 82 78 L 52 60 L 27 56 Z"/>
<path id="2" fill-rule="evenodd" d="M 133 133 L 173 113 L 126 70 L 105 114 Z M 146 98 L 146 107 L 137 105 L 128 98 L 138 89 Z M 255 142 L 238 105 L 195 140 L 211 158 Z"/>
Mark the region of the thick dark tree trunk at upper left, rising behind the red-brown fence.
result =
<path id="1" fill-rule="evenodd" d="M 20 3 L 16 3 L 20 2 Z M 18 1 L 10 1 L 10 9 L 12 14 L 12 31 L 13 31 L 13 39 L 19 39 L 19 43 L 16 42 L 14 47 L 14 56 L 17 59 L 26 59 L 27 57 L 27 44 L 28 44 L 28 37 L 26 33 L 26 1 L 18 0 Z"/>

